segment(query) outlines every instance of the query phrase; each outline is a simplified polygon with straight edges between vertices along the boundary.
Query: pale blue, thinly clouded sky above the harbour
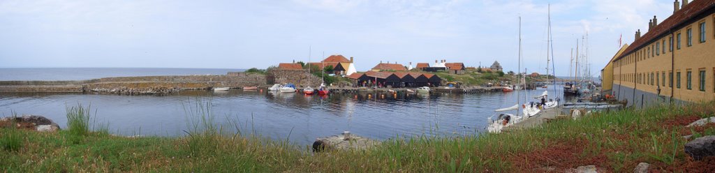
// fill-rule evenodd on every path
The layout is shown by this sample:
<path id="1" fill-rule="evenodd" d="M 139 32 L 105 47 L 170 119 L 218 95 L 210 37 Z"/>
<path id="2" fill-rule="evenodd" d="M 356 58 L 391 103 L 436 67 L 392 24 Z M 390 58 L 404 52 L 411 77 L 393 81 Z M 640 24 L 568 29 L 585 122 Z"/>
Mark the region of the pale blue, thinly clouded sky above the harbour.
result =
<path id="1" fill-rule="evenodd" d="M 543 74 L 549 4 L 557 76 L 586 33 L 598 76 L 619 39 L 673 13 L 655 0 L 3 0 L 0 67 L 265 69 L 342 54 L 358 71 L 435 59 L 518 71 L 521 16 L 522 71 Z"/>

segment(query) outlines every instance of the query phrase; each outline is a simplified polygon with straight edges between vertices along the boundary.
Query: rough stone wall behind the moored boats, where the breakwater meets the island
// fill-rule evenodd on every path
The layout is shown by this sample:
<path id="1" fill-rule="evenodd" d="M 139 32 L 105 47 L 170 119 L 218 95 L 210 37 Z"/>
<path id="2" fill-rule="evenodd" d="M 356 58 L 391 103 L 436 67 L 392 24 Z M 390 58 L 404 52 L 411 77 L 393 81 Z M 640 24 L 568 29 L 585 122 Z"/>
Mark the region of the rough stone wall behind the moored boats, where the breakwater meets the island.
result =
<path id="1" fill-rule="evenodd" d="M 322 83 L 322 79 L 315 75 L 310 75 L 310 84 L 308 84 L 307 70 L 285 70 L 285 69 L 270 69 L 267 71 L 267 82 L 274 84 L 295 84 L 296 87 L 318 87 Z M 271 82 L 272 81 L 272 82 Z"/>

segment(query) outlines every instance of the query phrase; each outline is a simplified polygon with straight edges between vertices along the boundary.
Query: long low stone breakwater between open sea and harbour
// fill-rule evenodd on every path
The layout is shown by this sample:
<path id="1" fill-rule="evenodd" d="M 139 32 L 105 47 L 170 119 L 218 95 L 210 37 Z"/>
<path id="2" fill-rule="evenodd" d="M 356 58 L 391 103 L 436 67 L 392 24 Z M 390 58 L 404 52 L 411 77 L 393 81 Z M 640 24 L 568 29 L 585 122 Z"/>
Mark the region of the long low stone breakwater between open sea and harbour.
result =
<path id="1" fill-rule="evenodd" d="M 214 87 L 265 87 L 266 84 L 264 74 L 232 72 L 227 75 L 109 77 L 84 81 L 0 81 L 0 92 L 171 94 Z"/>

